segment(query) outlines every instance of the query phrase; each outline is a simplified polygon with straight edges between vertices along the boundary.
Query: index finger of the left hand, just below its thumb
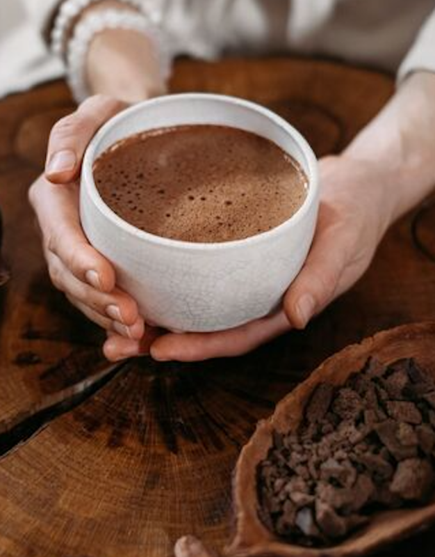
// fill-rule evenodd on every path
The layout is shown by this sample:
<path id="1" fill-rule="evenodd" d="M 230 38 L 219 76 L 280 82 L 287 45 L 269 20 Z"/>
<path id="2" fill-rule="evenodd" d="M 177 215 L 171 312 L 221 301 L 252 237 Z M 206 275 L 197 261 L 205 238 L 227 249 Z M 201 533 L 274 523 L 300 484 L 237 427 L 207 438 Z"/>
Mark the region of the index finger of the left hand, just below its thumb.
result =
<path id="1" fill-rule="evenodd" d="M 29 196 L 42 229 L 44 244 L 79 281 L 110 292 L 115 270 L 86 239 L 79 221 L 79 189 L 59 188 L 40 178 Z"/>

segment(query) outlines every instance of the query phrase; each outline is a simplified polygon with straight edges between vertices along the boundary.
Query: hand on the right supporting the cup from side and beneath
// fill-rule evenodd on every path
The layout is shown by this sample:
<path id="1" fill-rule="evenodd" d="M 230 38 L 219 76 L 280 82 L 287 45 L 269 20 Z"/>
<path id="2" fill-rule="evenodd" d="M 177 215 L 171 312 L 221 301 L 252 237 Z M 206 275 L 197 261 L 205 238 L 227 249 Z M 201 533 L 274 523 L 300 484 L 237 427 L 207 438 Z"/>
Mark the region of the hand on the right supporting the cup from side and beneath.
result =
<path id="1" fill-rule="evenodd" d="M 292 327 L 303 329 L 313 315 L 348 290 L 366 271 L 391 223 L 388 174 L 370 162 L 345 155 L 320 161 L 321 203 L 308 258 L 284 297 L 283 307 L 235 329 L 216 333 L 167 333 L 146 347 L 158 361 L 200 361 L 238 356 Z M 109 336 L 109 352 L 140 353 L 140 342 Z"/>

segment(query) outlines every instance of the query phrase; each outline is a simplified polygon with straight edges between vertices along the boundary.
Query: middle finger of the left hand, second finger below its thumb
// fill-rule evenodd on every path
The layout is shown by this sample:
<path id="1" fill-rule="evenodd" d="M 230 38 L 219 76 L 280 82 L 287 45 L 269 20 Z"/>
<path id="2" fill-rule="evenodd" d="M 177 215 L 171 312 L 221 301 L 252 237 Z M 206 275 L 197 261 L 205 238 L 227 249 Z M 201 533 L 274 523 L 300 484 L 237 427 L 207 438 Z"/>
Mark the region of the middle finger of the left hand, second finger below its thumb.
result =
<path id="1" fill-rule="evenodd" d="M 103 317 L 109 317 L 123 325 L 130 326 L 142 319 L 139 316 L 136 301 L 119 288 L 114 288 L 110 293 L 100 292 L 79 281 L 54 253 L 47 251 L 46 258 L 51 282 L 58 290 L 81 301 L 82 304 L 89 306 Z"/>

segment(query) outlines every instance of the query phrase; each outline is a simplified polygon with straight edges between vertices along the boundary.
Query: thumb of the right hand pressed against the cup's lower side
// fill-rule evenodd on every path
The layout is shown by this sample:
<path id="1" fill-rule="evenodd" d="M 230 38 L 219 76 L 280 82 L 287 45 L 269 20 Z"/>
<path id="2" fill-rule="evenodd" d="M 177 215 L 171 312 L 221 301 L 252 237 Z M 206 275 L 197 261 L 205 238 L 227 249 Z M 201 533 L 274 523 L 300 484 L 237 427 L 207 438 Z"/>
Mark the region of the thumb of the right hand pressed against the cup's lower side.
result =
<path id="1" fill-rule="evenodd" d="M 284 311 L 290 324 L 304 329 L 311 317 L 345 290 L 343 274 L 347 265 L 347 234 L 336 227 L 322 228 L 319 221 L 304 267 L 284 297 Z"/>

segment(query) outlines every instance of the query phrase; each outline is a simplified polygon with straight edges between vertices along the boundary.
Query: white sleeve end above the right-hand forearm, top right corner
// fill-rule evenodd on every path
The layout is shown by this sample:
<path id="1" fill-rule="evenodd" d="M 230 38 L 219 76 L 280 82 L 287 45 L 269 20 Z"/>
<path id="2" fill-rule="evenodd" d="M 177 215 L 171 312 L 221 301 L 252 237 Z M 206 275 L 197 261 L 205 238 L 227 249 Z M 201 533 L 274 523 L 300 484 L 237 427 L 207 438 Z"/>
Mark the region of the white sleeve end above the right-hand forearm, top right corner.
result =
<path id="1" fill-rule="evenodd" d="M 412 72 L 426 70 L 435 72 L 435 10 L 420 29 L 399 71 L 397 82 L 400 83 Z"/>

